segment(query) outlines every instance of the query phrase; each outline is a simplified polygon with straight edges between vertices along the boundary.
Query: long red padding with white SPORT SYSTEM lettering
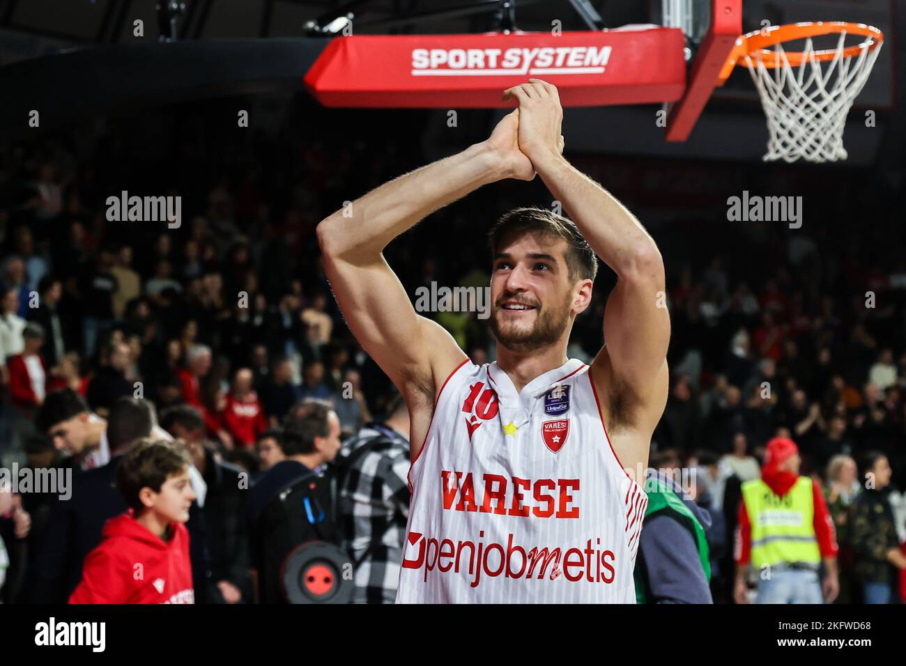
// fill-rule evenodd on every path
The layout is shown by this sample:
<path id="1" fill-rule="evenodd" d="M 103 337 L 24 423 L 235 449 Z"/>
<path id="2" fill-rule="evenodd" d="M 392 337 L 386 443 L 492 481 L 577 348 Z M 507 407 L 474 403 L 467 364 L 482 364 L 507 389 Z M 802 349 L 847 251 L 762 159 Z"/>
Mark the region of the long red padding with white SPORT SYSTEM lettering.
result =
<path id="1" fill-rule="evenodd" d="M 679 100 L 679 28 L 518 34 L 352 35 L 328 44 L 305 85 L 325 106 L 506 107 L 529 78 L 554 83 L 564 106 Z"/>

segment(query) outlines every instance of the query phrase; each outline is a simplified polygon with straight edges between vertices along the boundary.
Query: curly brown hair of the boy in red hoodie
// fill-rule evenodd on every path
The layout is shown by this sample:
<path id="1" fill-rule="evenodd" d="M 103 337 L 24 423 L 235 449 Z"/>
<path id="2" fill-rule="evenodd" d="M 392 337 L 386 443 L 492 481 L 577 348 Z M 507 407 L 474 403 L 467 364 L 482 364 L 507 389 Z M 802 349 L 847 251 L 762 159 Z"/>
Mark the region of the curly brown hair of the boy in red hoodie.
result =
<path id="1" fill-rule="evenodd" d="M 156 493 L 174 474 L 190 465 L 186 449 L 179 441 L 140 439 L 120 460 L 116 470 L 116 487 L 136 516 L 144 509 L 139 499 L 143 487 Z"/>

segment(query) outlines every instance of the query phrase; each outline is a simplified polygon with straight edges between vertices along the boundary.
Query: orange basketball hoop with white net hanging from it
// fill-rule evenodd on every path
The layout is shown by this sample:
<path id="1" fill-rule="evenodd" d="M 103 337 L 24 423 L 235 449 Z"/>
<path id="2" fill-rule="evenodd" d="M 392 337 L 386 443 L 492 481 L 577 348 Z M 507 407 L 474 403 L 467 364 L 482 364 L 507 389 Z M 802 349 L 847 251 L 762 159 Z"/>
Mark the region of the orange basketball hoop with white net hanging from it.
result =
<path id="1" fill-rule="evenodd" d="M 839 34 L 836 47 L 815 50 L 812 38 L 827 34 Z M 847 35 L 865 39 L 847 46 Z M 803 51 L 784 49 L 783 43 L 801 39 Z M 872 73 L 883 41 L 882 32 L 871 25 L 826 21 L 766 26 L 737 39 L 720 81 L 746 63 L 767 116 L 765 161 L 846 159 L 846 115 Z"/>

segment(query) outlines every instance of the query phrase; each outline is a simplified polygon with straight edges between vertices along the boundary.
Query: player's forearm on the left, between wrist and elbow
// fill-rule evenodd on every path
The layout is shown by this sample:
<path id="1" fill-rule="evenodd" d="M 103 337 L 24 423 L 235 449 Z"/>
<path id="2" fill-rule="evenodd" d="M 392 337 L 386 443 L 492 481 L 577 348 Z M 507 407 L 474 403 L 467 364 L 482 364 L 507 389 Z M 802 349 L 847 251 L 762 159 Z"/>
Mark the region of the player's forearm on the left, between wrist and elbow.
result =
<path id="1" fill-rule="evenodd" d="M 391 180 L 318 225 L 325 255 L 369 261 L 421 218 L 506 173 L 487 144 L 440 159 Z"/>

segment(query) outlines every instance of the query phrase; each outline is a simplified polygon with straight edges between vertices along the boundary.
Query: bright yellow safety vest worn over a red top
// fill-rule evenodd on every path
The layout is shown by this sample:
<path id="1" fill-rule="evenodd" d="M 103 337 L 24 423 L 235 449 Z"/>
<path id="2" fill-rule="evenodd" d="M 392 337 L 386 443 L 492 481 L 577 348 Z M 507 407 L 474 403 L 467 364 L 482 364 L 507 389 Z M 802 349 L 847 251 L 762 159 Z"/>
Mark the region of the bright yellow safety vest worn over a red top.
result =
<path id="1" fill-rule="evenodd" d="M 760 478 L 742 485 L 751 524 L 752 565 L 821 564 L 814 536 L 812 479 L 799 477 L 784 497 Z"/>

